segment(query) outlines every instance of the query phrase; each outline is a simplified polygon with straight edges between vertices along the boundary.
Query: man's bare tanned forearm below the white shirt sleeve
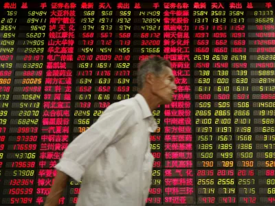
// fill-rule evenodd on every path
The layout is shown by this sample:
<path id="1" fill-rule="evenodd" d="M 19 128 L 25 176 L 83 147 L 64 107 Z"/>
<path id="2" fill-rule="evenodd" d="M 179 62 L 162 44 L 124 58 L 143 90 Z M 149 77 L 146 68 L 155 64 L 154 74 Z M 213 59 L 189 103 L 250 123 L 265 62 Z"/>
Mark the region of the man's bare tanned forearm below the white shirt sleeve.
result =
<path id="1" fill-rule="evenodd" d="M 52 185 L 51 192 L 47 196 L 44 206 L 58 206 L 59 198 L 63 194 L 63 190 L 67 185 L 69 176 L 64 172 L 57 170 L 56 177 L 54 178 L 54 183 Z"/>

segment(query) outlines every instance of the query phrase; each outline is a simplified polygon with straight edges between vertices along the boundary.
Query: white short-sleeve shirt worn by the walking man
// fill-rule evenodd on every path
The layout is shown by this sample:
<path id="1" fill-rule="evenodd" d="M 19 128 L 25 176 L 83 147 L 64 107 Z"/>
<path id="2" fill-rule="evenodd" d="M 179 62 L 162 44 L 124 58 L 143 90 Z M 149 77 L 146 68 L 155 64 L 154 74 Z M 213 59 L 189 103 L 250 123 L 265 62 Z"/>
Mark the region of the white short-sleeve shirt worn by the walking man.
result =
<path id="1" fill-rule="evenodd" d="M 150 133 L 157 128 L 142 95 L 111 104 L 66 148 L 55 166 L 81 189 L 77 206 L 144 206 L 151 185 Z"/>

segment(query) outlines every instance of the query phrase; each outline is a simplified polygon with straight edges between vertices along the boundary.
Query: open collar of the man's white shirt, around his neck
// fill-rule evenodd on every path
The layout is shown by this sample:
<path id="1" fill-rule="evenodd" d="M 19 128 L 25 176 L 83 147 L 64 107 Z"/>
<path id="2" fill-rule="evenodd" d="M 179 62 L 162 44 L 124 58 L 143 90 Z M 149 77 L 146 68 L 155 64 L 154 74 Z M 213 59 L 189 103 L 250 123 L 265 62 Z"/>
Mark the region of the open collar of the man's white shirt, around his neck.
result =
<path id="1" fill-rule="evenodd" d="M 135 95 L 135 100 L 137 100 L 137 103 L 140 104 L 140 108 L 142 109 L 142 118 L 146 119 L 150 117 L 148 118 L 150 124 L 150 128 L 148 128 L 148 130 L 153 133 L 157 129 L 157 122 L 155 122 L 155 118 L 153 117 L 146 100 L 139 93 Z"/>

